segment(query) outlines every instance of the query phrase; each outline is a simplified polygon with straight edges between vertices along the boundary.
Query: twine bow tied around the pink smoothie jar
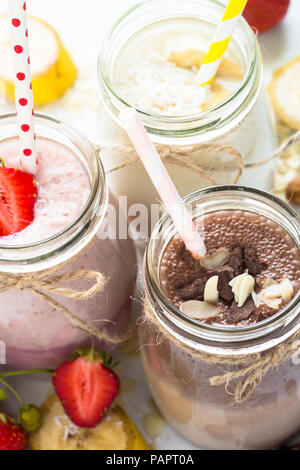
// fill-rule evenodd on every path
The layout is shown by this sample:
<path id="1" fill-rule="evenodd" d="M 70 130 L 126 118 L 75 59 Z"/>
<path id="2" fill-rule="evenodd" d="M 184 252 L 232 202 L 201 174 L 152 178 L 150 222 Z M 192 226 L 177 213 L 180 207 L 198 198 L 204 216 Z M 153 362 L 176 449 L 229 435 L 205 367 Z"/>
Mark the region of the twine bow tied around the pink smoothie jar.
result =
<path id="1" fill-rule="evenodd" d="M 79 279 L 92 279 L 93 285 L 86 290 L 77 291 L 67 287 L 59 287 L 64 281 L 75 281 Z M 105 285 L 103 274 L 92 270 L 69 271 L 62 274 L 57 273 L 57 268 L 40 271 L 36 273 L 19 274 L 18 276 L 8 273 L 0 273 L 0 293 L 11 289 L 16 291 L 30 291 L 52 305 L 58 312 L 69 320 L 76 328 L 96 336 L 100 340 L 118 344 L 128 339 L 129 334 L 121 337 L 111 336 L 94 328 L 90 323 L 82 320 L 71 313 L 61 303 L 52 299 L 47 293 L 62 295 L 63 297 L 76 300 L 86 300 L 96 295 Z M 44 292 L 43 292 L 44 291 Z M 47 292 L 47 293 L 45 293 Z"/>

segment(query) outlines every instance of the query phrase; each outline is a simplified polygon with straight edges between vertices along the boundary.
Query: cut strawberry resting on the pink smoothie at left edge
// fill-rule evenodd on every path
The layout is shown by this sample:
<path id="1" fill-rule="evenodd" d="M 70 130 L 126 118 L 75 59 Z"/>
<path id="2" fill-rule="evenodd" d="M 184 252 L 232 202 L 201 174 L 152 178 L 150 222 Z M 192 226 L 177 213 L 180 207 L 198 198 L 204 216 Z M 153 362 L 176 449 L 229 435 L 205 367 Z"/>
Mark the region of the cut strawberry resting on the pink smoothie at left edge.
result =
<path id="1" fill-rule="evenodd" d="M 0 236 L 24 230 L 34 218 L 37 187 L 33 176 L 0 168 Z"/>

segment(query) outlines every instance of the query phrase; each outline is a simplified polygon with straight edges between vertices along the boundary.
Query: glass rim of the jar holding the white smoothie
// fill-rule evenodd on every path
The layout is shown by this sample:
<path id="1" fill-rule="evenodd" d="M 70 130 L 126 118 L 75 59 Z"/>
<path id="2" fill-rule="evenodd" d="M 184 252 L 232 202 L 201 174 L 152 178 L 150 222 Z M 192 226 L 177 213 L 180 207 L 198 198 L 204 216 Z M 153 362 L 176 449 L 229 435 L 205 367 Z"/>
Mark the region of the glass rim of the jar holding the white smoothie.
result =
<path id="1" fill-rule="evenodd" d="M 129 103 L 124 97 L 122 97 L 118 91 L 116 90 L 113 80 L 111 78 L 111 73 L 109 72 L 107 68 L 107 63 L 106 63 L 106 52 L 107 48 L 109 45 L 109 41 L 113 37 L 113 34 L 115 31 L 118 30 L 118 28 L 122 27 L 122 24 L 130 19 L 130 17 L 133 15 L 138 15 L 143 13 L 143 9 L 148 7 L 150 4 L 158 2 L 160 3 L 159 0 L 146 0 L 143 2 L 140 2 L 136 4 L 135 6 L 131 7 L 128 9 L 123 15 L 114 23 L 112 28 L 110 29 L 109 33 L 106 35 L 102 47 L 100 48 L 99 56 L 98 56 L 98 77 L 99 77 L 99 86 L 100 86 L 100 93 L 102 97 L 107 98 L 104 99 L 104 103 L 107 107 L 107 110 L 110 112 L 112 117 L 118 121 L 118 116 L 116 115 L 115 108 L 117 108 L 118 111 L 120 111 L 124 107 L 132 107 L 133 105 Z M 187 3 L 195 3 L 198 7 L 201 2 L 204 2 L 207 4 L 214 4 L 214 7 L 216 12 L 221 12 L 224 10 L 224 4 L 221 3 L 219 0 L 210 0 L 209 2 L 207 0 L 187 0 L 186 2 L 180 2 L 184 5 Z M 166 5 L 167 3 L 173 3 L 174 5 L 179 5 L 179 2 L 174 1 L 174 0 L 165 0 L 164 4 L 160 3 L 160 7 L 163 5 Z M 141 10 L 141 11 L 140 11 Z M 216 13 L 214 11 L 214 14 Z M 168 9 L 168 17 L 167 18 L 178 18 L 179 16 L 176 15 L 176 11 L 174 9 Z M 198 19 L 198 16 L 192 16 L 190 15 L 191 18 L 196 18 Z M 165 18 L 165 19 L 167 19 Z M 208 20 L 207 20 L 208 21 Z M 217 20 L 215 21 L 217 24 Z M 146 26 L 149 26 L 152 23 L 147 24 Z M 143 25 L 145 27 L 145 25 Z M 245 76 L 243 80 L 241 80 L 241 83 L 239 87 L 235 90 L 235 92 L 227 98 L 225 101 L 222 103 L 216 105 L 215 107 L 208 109 L 206 111 L 202 111 L 200 113 L 195 113 L 191 115 L 183 115 L 183 116 L 169 116 L 169 115 L 162 115 L 162 114 L 156 114 L 156 113 L 150 113 L 147 112 L 143 109 L 140 108 L 135 108 L 137 112 L 139 113 L 140 117 L 143 119 L 144 124 L 148 130 L 148 132 L 153 133 L 153 134 L 164 134 L 164 130 L 162 128 L 156 128 L 156 125 L 159 126 L 159 123 L 162 121 L 170 126 L 174 125 L 174 129 L 177 129 L 177 126 L 185 125 L 187 123 L 194 123 L 193 125 L 196 125 L 196 129 L 198 132 L 201 130 L 200 128 L 203 127 L 203 130 L 208 130 L 210 127 L 214 126 L 216 123 L 219 122 L 220 119 L 222 119 L 222 116 L 225 115 L 225 110 L 228 111 L 229 107 L 232 105 L 232 103 L 236 102 L 237 99 L 239 98 L 241 103 L 240 105 L 243 105 L 246 103 L 246 110 L 244 115 L 248 114 L 248 112 L 252 109 L 254 103 L 256 102 L 258 93 L 261 88 L 262 84 L 262 66 L 261 66 L 261 54 L 260 54 L 260 48 L 258 41 L 256 39 L 256 36 L 250 26 L 248 25 L 247 21 L 242 17 L 239 24 L 237 25 L 234 33 L 233 33 L 233 38 L 235 39 L 238 32 L 242 32 L 245 35 L 245 38 L 247 38 L 247 41 L 249 41 L 250 44 L 250 50 L 252 57 L 247 54 L 247 59 L 249 60 L 249 65 L 247 68 L 247 71 L 245 73 Z M 127 38 L 128 40 L 129 38 Z M 120 47 L 121 49 L 121 47 Z M 254 75 L 257 75 L 257 80 L 253 83 L 253 77 Z M 252 82 L 252 83 L 251 83 Z M 250 90 L 248 89 L 250 87 Z M 250 96 L 251 90 L 254 92 Z M 216 118 L 216 112 L 218 112 L 218 118 Z M 229 116 L 229 118 L 231 115 Z M 202 120 L 202 124 L 199 120 Z M 119 122 L 119 121 L 118 121 Z M 161 126 L 162 127 L 162 126 Z M 177 129 L 177 134 L 178 134 L 178 129 Z M 167 135 L 167 132 L 166 132 Z M 181 134 L 179 135 L 181 136 Z"/>

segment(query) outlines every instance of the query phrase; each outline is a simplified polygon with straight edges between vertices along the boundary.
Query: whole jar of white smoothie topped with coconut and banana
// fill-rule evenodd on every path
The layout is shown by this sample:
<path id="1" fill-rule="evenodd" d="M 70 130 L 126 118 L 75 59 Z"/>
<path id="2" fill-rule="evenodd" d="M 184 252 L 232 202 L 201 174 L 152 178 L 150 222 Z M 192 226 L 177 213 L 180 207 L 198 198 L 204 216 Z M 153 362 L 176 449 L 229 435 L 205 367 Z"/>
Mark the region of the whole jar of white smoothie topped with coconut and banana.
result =
<path id="1" fill-rule="evenodd" d="M 219 4 L 207 0 L 142 3 L 123 16 L 103 45 L 99 80 L 105 108 L 99 142 L 105 146 L 106 170 L 115 170 L 108 176 L 111 188 L 126 195 L 129 206 L 149 207 L 157 202 L 157 194 L 142 165 L 128 164 L 133 155 L 124 151 L 130 143 L 118 124 L 124 106 L 136 108 L 153 142 L 162 146 L 162 153 L 167 149 L 165 163 L 181 196 L 234 182 L 238 162 L 230 149 L 239 152 L 245 166 L 239 183 L 271 189 L 272 162 L 246 168 L 259 163 L 275 145 L 260 88 L 259 46 L 246 22 L 237 27 L 215 80 L 205 86 L 198 83 L 221 11 Z M 199 147 L 207 143 L 213 147 Z M 179 161 L 172 161 L 172 151 Z"/>

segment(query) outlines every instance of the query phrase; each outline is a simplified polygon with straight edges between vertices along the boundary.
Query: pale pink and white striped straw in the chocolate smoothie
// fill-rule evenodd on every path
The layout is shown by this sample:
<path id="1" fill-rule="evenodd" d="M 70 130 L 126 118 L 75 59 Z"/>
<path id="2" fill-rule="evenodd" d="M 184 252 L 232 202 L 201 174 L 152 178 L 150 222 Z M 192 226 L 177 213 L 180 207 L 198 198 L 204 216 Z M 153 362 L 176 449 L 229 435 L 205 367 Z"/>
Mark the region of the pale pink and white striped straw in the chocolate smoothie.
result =
<path id="1" fill-rule="evenodd" d="M 172 218 L 186 248 L 195 258 L 204 256 L 206 248 L 196 226 L 183 204 L 160 156 L 151 142 L 146 129 L 133 108 L 119 114 L 119 119 L 134 145 L 152 183 Z"/>

